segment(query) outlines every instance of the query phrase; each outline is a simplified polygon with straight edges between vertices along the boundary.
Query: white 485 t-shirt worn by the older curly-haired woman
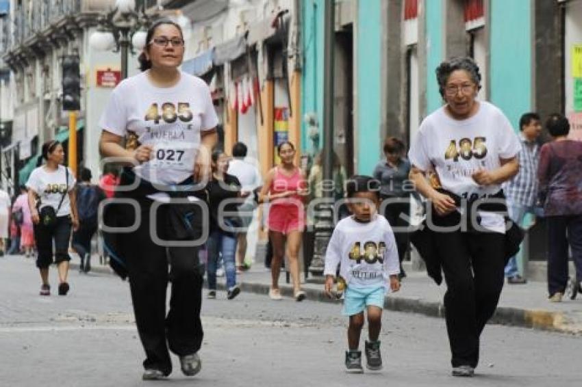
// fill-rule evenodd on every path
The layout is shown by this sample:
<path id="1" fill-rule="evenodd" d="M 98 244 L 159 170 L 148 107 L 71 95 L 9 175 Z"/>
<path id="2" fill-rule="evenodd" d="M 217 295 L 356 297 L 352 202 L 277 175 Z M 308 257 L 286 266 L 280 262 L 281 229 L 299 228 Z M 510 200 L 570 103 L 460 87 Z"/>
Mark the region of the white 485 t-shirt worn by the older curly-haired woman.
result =
<path id="1" fill-rule="evenodd" d="M 501 185 L 478 185 L 472 174 L 494 170 L 499 159 L 516 157 L 520 141 L 509 120 L 494 105 L 479 101 L 479 111 L 466 120 L 453 120 L 444 107 L 422 121 L 410 146 L 408 159 L 422 171 L 435 170 L 444 189 L 461 198 L 485 198 L 497 193 Z M 501 215 L 478 211 L 481 226 L 505 233 Z"/>

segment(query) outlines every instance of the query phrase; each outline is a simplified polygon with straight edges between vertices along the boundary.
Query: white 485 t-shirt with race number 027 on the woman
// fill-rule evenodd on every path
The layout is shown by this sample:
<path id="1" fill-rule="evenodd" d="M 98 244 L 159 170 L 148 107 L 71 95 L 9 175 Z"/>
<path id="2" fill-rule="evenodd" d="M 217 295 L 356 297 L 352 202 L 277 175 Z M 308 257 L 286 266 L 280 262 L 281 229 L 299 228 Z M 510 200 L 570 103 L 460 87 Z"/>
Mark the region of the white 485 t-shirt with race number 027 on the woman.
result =
<path id="1" fill-rule="evenodd" d="M 163 185 L 192 176 L 201 132 L 218 124 L 206 83 L 180 72 L 178 83 L 158 88 L 147 71 L 125 79 L 113 90 L 103 111 L 101 129 L 127 142 L 151 144 L 153 157 L 136 166 L 138 176 Z"/>

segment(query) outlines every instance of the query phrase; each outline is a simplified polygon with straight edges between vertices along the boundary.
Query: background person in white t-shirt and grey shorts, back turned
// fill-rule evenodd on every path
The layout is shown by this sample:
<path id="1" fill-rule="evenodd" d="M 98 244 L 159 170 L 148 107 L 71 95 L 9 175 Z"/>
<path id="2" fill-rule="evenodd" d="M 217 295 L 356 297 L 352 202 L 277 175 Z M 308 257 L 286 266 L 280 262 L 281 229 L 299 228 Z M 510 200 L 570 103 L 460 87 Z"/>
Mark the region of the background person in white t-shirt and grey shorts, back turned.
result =
<path id="1" fill-rule="evenodd" d="M 246 145 L 242 142 L 237 142 L 232 146 L 232 159 L 229 163 L 228 173 L 238 178 L 242 190 L 249 192 L 249 196 L 238 207 L 240 213 L 240 220 L 242 221 L 241 229 L 236 236 L 236 269 L 237 273 L 249 269 L 249 265 L 245 261 L 246 255 L 246 237 L 249 226 L 253 222 L 253 212 L 257 206 L 257 189 L 262 185 L 262 178 L 257 167 L 246 161 Z"/>

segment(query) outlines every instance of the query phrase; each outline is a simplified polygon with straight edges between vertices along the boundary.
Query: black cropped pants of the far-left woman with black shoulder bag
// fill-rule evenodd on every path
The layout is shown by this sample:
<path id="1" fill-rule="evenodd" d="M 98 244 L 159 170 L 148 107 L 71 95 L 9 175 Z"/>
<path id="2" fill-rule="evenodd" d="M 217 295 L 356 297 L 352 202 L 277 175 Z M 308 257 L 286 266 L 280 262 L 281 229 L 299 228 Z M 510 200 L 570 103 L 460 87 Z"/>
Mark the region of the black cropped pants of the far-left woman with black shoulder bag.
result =
<path id="1" fill-rule="evenodd" d="M 36 267 L 46 269 L 53 263 L 53 239 L 55 241 L 54 263 L 71 261 L 68 255 L 68 241 L 71 240 L 71 217 L 69 215 L 57 217 L 55 224 L 45 226 L 42 223 L 34 224 L 34 240 L 36 241 Z"/>

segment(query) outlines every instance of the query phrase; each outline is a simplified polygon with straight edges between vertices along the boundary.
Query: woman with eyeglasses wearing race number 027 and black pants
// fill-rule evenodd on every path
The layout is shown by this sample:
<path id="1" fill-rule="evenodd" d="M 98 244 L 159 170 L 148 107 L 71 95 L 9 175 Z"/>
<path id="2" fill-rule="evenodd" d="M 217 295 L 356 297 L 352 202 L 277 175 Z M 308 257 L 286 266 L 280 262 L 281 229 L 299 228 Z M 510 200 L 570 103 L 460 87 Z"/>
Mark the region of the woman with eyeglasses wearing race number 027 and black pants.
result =
<path id="1" fill-rule="evenodd" d="M 138 207 L 119 204 L 122 226 L 137 223 L 137 229 L 128 228 L 121 235 L 116 255 L 118 261 L 125 261 L 129 275 L 146 353 L 142 378 L 148 380 L 171 373 L 169 351 L 179 357 L 185 375 L 201 370 L 197 352 L 203 338 L 204 267 L 194 246 L 197 243 L 185 239 L 187 245 L 179 245 L 174 240 L 181 239 L 171 230 L 180 224 L 184 227 L 183 220 L 190 230 L 199 230 L 207 227 L 207 219 L 203 223 L 201 213 L 194 211 L 175 222 L 186 207 L 170 200 L 186 192 L 182 200 L 203 202 L 194 189 L 205 186 L 210 175 L 218 118 L 206 83 L 179 70 L 184 58 L 179 25 L 157 21 L 147 31 L 146 42 L 139 57 L 142 72 L 117 85 L 105 107 L 99 147 L 104 157 L 116 158 L 112 162 L 125 160 L 115 197 Z M 121 146 L 124 139 L 125 148 Z M 140 222 L 134 222 L 138 215 Z M 166 314 L 168 282 L 172 289 Z"/>

